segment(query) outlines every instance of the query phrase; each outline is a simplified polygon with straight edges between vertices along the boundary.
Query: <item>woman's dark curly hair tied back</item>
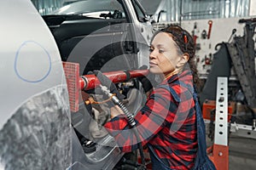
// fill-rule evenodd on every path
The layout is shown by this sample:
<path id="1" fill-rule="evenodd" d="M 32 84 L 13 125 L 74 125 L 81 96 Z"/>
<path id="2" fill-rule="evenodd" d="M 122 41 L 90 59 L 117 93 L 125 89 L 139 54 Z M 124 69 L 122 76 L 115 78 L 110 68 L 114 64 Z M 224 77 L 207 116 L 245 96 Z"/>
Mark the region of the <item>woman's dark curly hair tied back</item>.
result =
<path id="1" fill-rule="evenodd" d="M 198 77 L 198 71 L 195 65 L 195 42 L 193 37 L 181 26 L 176 25 L 167 26 L 166 28 L 156 31 L 154 37 L 160 32 L 166 32 L 171 35 L 173 41 L 176 42 L 175 45 L 177 46 L 178 54 L 189 54 L 189 66 L 184 67 L 184 69 L 190 69 L 192 71 L 195 87 L 200 89 L 201 81 Z"/>

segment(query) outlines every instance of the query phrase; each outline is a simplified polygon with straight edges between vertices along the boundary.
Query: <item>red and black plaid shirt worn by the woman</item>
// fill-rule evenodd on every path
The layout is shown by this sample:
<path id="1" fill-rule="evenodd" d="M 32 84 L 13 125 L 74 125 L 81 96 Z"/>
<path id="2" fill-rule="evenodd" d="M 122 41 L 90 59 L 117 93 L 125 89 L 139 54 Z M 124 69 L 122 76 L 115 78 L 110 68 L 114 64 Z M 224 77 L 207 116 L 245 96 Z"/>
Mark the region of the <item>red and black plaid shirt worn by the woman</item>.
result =
<path id="1" fill-rule="evenodd" d="M 162 88 L 166 85 L 172 89 Z M 135 116 L 139 142 L 151 144 L 160 160 L 173 169 L 193 167 L 197 151 L 195 102 L 188 86 L 193 87 L 190 71 L 168 78 L 154 88 Z M 137 150 L 137 139 L 124 115 L 113 117 L 105 127 L 121 150 Z"/>

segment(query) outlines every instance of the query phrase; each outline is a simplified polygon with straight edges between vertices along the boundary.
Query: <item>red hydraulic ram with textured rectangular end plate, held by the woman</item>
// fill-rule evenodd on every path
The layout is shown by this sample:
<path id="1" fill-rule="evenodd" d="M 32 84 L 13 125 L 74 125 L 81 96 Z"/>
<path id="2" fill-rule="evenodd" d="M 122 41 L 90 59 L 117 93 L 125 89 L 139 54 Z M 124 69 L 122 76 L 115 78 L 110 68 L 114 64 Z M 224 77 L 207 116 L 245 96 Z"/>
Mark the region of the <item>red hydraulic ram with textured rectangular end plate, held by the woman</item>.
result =
<path id="1" fill-rule="evenodd" d="M 79 76 L 79 64 L 71 62 L 62 62 L 67 81 L 67 90 L 69 95 L 70 110 L 79 111 L 79 91 L 90 90 L 100 85 L 95 75 Z M 137 71 L 111 71 L 104 72 L 113 83 L 127 82 L 131 78 L 143 77 L 148 75 L 148 70 Z"/>

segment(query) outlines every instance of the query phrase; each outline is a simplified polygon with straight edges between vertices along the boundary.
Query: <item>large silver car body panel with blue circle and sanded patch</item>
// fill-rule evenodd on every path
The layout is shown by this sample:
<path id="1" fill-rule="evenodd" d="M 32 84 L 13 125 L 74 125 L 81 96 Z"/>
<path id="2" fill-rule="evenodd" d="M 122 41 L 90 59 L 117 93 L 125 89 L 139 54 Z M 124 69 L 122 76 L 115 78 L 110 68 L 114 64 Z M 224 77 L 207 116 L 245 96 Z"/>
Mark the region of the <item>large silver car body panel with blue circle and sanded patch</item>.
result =
<path id="1" fill-rule="evenodd" d="M 29 0 L 1 1 L 0 14 L 0 169 L 66 169 L 72 130 L 55 39 Z"/>

